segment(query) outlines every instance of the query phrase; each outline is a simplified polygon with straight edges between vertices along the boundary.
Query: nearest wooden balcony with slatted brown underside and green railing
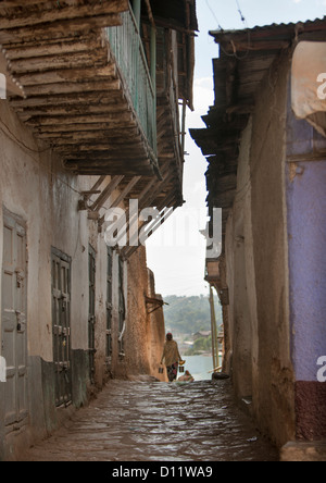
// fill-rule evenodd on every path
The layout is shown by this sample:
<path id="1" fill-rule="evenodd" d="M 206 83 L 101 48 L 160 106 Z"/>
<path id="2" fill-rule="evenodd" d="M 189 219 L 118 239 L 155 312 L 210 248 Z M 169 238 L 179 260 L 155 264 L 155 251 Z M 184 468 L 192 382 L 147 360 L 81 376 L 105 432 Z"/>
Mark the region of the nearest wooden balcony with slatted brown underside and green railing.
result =
<path id="1" fill-rule="evenodd" d="M 159 175 L 155 76 L 129 2 L 12 10 L 0 44 L 25 98 L 10 102 L 35 136 L 75 174 Z"/>

